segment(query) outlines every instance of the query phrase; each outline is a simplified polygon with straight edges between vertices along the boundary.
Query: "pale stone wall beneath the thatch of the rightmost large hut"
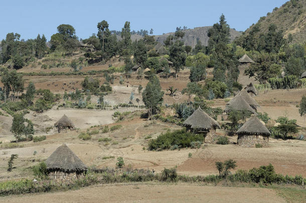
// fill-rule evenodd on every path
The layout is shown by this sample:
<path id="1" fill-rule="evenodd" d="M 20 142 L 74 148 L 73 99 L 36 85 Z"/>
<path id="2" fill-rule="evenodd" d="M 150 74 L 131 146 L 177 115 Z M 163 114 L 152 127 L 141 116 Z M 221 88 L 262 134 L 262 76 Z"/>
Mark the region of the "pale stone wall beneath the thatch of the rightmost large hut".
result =
<path id="1" fill-rule="evenodd" d="M 237 144 L 244 147 L 254 147 L 255 144 L 267 146 L 268 143 L 269 137 L 266 135 L 239 134 L 237 138 Z"/>

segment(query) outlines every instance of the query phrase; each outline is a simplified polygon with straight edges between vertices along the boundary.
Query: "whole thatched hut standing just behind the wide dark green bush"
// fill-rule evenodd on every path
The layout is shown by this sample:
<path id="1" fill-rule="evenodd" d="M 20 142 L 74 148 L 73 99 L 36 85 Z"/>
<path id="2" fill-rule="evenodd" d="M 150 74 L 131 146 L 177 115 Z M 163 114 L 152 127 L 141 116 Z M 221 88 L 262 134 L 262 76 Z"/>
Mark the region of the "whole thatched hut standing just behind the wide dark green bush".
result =
<path id="1" fill-rule="evenodd" d="M 207 137 L 207 135 L 212 137 L 216 134 L 216 128 L 220 129 L 219 123 L 205 113 L 201 107 L 185 120 L 183 126 L 193 132 L 204 133 L 205 137 Z"/>

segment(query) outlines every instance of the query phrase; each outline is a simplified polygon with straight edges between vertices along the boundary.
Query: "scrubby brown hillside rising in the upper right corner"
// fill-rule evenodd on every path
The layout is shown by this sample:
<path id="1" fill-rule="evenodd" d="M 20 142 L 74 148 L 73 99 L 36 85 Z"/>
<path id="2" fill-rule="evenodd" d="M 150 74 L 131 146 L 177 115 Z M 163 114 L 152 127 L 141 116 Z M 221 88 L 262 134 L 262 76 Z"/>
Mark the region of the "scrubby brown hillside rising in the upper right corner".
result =
<path id="1" fill-rule="evenodd" d="M 261 33 L 266 33 L 270 24 L 275 24 L 278 30 L 282 30 L 284 38 L 291 34 L 292 43 L 303 43 L 306 41 L 306 0 L 291 0 L 280 8 L 273 9 L 272 13 L 261 17 L 255 25 L 259 26 Z M 247 36 L 252 25 L 245 31 L 243 36 Z"/>

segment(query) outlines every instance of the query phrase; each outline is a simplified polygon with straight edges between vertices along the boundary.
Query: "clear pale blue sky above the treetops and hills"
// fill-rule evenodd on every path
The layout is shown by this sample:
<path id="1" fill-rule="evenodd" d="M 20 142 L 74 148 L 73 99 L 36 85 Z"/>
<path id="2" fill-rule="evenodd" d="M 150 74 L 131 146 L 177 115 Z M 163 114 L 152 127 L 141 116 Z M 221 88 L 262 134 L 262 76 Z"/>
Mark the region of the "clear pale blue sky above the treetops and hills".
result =
<path id="1" fill-rule="evenodd" d="M 33 39 L 45 34 L 47 40 L 60 24 L 70 24 L 79 38 L 97 33 L 97 23 L 106 20 L 110 30 L 121 30 L 129 21 L 131 30 L 154 30 L 155 35 L 176 27 L 211 26 L 223 13 L 227 23 L 245 31 L 258 19 L 280 7 L 286 0 L 204 0 L 204 1 L 71 1 L 16 0 L 0 2 L 0 40 L 8 33 Z"/>

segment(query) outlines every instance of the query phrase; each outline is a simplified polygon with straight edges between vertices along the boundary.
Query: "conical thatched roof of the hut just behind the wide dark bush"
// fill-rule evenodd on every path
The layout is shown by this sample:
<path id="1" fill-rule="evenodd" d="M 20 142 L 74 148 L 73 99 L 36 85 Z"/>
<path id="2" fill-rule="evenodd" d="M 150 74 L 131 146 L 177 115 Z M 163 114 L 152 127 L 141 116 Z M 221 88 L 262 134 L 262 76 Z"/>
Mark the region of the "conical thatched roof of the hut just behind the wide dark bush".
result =
<path id="1" fill-rule="evenodd" d="M 212 127 L 220 128 L 219 123 L 205 113 L 205 111 L 200 107 L 185 120 L 183 125 L 190 126 L 193 129 L 211 129 Z"/>

